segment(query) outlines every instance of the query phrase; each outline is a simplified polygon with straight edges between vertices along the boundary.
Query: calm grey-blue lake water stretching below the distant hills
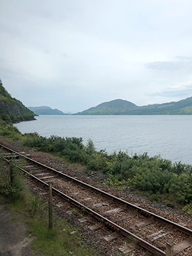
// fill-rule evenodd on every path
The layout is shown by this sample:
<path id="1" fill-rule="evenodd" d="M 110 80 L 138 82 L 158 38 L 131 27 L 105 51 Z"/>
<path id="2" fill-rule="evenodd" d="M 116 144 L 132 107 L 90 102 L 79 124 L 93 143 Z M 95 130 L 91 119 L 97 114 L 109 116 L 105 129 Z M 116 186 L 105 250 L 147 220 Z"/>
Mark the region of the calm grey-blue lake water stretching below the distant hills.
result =
<path id="1" fill-rule="evenodd" d="M 93 140 L 97 150 L 159 155 L 172 162 L 192 164 L 192 116 L 37 116 L 15 124 L 24 134 L 81 137 Z"/>

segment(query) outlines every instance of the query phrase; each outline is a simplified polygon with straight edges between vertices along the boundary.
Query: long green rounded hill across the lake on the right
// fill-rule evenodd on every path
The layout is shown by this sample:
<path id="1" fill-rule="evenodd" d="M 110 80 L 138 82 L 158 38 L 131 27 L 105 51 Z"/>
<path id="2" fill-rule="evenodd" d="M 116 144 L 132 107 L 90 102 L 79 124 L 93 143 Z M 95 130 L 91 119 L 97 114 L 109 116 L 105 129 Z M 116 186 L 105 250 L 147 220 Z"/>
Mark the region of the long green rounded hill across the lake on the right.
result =
<path id="1" fill-rule="evenodd" d="M 192 97 L 178 102 L 136 106 L 127 100 L 112 100 L 78 112 L 76 115 L 148 115 L 148 114 L 192 114 Z"/>

